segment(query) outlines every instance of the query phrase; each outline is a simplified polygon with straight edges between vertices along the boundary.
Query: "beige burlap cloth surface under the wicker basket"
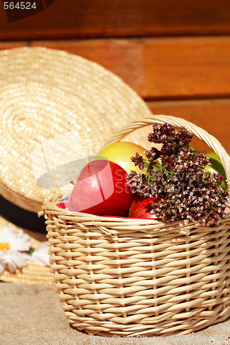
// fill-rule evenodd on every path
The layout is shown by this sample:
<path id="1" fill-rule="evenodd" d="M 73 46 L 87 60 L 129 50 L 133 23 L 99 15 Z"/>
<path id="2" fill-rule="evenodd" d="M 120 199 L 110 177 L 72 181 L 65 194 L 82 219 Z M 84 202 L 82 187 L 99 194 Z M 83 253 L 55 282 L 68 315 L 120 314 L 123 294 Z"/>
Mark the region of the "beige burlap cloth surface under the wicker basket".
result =
<path id="1" fill-rule="evenodd" d="M 227 339 L 227 337 L 229 339 Z M 202 331 L 175 337 L 119 338 L 90 336 L 71 328 L 54 286 L 0 282 L 0 344 L 230 344 L 230 319 Z"/>

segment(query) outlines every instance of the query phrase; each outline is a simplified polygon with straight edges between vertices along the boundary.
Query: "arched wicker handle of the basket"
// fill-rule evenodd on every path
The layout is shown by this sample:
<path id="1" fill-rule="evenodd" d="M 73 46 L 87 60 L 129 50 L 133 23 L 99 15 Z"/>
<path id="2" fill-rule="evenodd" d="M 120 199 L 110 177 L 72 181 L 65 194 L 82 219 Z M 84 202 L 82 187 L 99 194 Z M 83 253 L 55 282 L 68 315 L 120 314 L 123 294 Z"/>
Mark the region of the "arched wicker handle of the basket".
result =
<path id="1" fill-rule="evenodd" d="M 155 122 L 158 122 L 160 124 L 171 124 L 176 128 L 184 127 L 189 130 L 189 132 L 192 132 L 193 135 L 204 141 L 204 143 L 207 144 L 211 148 L 211 150 L 213 150 L 213 152 L 215 152 L 215 154 L 219 157 L 224 167 L 227 177 L 227 191 L 230 197 L 230 157 L 227 154 L 226 150 L 224 150 L 224 148 L 220 144 L 220 141 L 218 141 L 218 139 L 215 139 L 213 135 L 210 135 L 206 130 L 203 130 L 202 128 L 192 124 L 189 121 L 181 119 L 180 117 L 173 117 L 170 115 L 150 115 L 148 117 L 144 117 L 132 122 L 131 124 L 128 124 L 127 126 L 124 126 L 121 130 L 119 130 L 119 132 L 115 133 L 115 135 L 113 135 L 111 139 L 106 141 L 105 146 L 107 146 L 108 144 L 112 144 L 115 141 L 121 140 L 122 138 L 126 137 L 126 135 L 138 128 L 153 125 L 155 124 Z"/>

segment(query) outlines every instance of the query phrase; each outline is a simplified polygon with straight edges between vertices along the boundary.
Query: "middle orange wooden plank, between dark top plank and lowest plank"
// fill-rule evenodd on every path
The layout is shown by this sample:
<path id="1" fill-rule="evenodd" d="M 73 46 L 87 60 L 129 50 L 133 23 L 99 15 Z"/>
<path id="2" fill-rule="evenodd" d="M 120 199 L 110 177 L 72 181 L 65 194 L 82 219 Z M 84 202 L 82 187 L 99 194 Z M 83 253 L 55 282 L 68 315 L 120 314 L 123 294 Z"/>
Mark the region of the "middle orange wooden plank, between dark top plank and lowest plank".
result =
<path id="1" fill-rule="evenodd" d="M 32 41 L 90 59 L 145 99 L 230 97 L 230 36 Z"/>

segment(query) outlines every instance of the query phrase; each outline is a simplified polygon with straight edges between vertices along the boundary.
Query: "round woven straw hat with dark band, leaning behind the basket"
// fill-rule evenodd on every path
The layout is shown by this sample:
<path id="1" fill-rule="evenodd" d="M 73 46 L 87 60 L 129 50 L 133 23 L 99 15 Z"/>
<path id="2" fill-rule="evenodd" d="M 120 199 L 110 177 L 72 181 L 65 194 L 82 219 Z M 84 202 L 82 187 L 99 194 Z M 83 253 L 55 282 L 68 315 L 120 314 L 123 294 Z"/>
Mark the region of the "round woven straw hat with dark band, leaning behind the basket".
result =
<path id="1" fill-rule="evenodd" d="M 37 185 L 42 172 L 47 175 L 55 164 L 61 165 L 57 163 L 58 157 L 48 157 L 51 161 L 47 164 L 45 159 L 42 163 L 39 155 L 43 155 L 44 150 L 48 150 L 50 156 L 55 148 L 62 153 L 69 151 L 65 135 L 70 135 L 69 149 L 79 144 L 86 155 L 95 155 L 124 124 L 150 114 L 136 92 L 97 63 L 46 48 L 2 50 L 1 197 L 21 209 L 39 212 L 44 198 L 59 193 L 57 185 L 56 188 L 51 186 L 52 176 L 46 188 L 41 188 L 42 183 Z M 146 138 L 145 129 L 139 134 L 135 132 L 135 139 L 132 135 L 126 137 L 126 141 L 135 140 L 136 144 L 141 144 L 143 137 Z M 71 155 L 67 156 L 70 161 Z M 48 188 L 50 186 L 52 188 Z M 3 211 L 1 209 L 4 216 Z M 3 218 L 0 226 L 2 222 Z M 30 233 L 30 237 L 35 238 L 35 233 Z M 34 275 L 35 271 L 39 275 L 36 269 L 30 263 L 22 273 L 17 272 L 17 277 L 4 273 L 0 279 L 31 283 L 36 277 L 27 280 L 24 277 L 30 273 Z M 50 275 L 47 269 L 42 273 L 44 279 Z M 41 276 L 39 279 L 42 280 Z"/>

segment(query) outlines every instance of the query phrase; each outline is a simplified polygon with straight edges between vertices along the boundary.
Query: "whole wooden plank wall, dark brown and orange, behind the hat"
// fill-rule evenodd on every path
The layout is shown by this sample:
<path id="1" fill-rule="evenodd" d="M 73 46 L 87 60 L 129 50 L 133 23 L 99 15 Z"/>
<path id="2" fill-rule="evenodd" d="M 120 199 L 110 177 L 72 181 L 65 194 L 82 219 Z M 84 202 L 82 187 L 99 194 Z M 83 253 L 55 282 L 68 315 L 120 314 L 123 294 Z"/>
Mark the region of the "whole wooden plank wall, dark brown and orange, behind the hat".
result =
<path id="1" fill-rule="evenodd" d="M 55 0 L 12 23 L 1 6 L 1 49 L 44 46 L 96 61 L 155 114 L 192 121 L 230 152 L 229 0 Z"/>

